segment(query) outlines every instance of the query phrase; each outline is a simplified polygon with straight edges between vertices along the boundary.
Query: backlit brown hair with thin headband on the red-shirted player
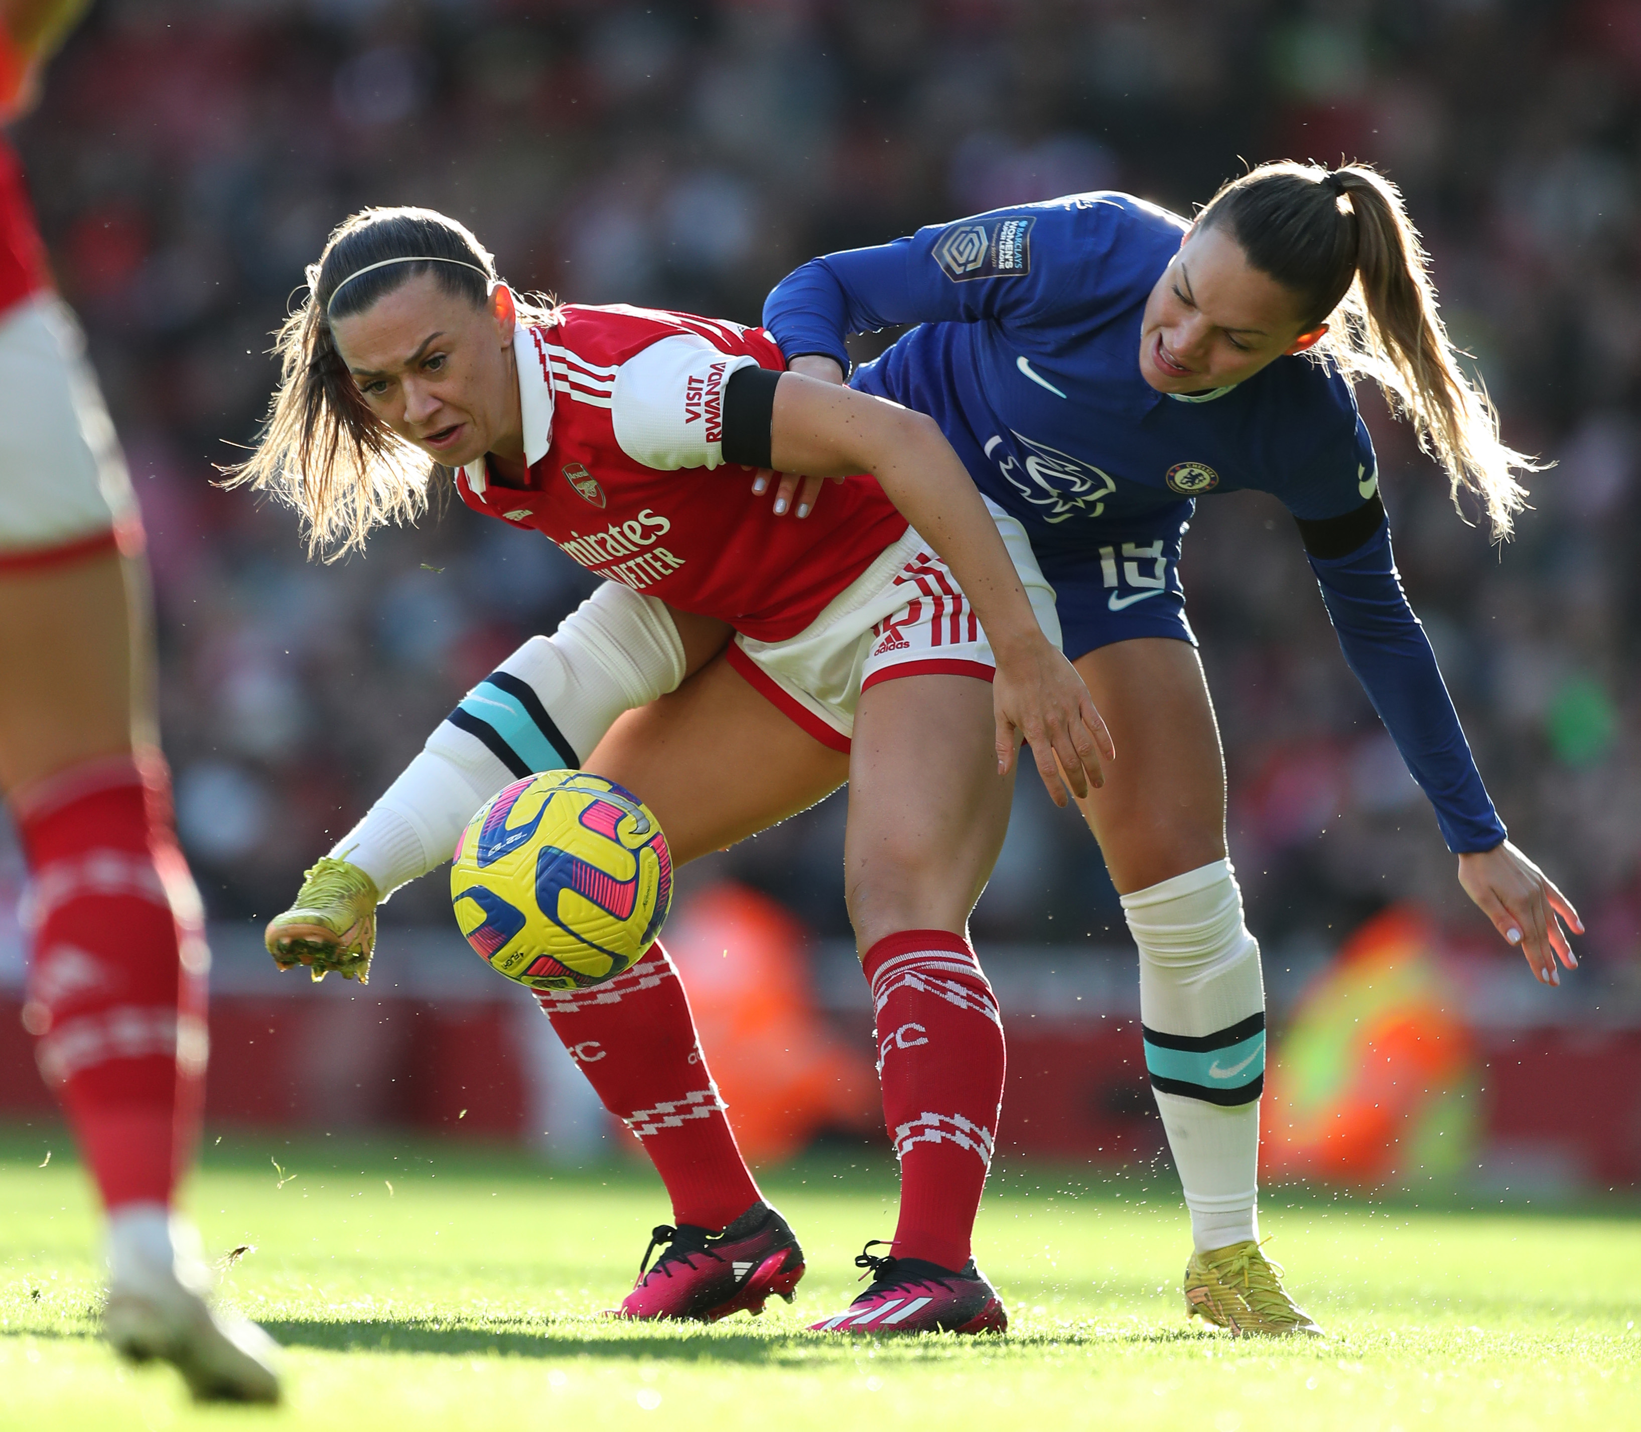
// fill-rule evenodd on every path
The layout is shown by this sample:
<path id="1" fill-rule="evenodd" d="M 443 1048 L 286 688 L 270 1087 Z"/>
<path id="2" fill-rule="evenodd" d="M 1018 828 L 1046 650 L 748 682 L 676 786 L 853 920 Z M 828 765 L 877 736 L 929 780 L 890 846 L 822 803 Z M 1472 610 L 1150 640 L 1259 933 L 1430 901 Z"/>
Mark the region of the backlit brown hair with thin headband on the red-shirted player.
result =
<path id="1" fill-rule="evenodd" d="M 279 388 L 249 460 L 223 486 L 272 493 L 302 516 L 309 555 L 364 547 L 373 527 L 427 509 L 435 465 L 366 404 L 330 320 L 361 314 L 417 274 L 474 305 L 497 282 L 496 261 L 466 225 L 432 209 L 364 209 L 343 220 L 307 268 L 307 297 L 274 335 Z M 517 302 L 520 322 L 550 312 Z"/>

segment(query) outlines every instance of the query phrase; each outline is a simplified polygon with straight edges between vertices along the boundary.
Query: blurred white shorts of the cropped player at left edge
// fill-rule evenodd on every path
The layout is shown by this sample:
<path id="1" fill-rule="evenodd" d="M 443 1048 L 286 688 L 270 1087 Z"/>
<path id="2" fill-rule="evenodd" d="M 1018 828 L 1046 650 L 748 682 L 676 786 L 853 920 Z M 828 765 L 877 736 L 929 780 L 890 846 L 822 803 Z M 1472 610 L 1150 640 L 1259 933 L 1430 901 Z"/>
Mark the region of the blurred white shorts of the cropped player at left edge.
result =
<path id="1" fill-rule="evenodd" d="M 141 540 L 113 422 L 67 305 L 0 314 L 0 573 Z"/>

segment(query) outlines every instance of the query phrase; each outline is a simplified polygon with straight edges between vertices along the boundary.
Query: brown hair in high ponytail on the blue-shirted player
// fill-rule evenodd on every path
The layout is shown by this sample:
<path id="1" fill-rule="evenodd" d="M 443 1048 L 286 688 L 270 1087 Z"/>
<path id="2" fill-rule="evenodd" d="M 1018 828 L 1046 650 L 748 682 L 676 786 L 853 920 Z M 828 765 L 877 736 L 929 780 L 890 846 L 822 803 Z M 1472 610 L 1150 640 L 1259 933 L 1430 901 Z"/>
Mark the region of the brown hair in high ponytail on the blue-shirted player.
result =
<path id="1" fill-rule="evenodd" d="M 1329 324 L 1316 345 L 1351 381 L 1372 378 L 1419 447 L 1482 503 L 1495 537 L 1508 537 L 1526 489 L 1516 471 L 1546 466 L 1508 448 L 1485 388 L 1472 386 L 1438 312 L 1429 256 L 1395 184 L 1365 164 L 1332 172 L 1283 161 L 1226 184 L 1198 215 L 1223 223 L 1249 263 L 1291 289 L 1305 328 Z"/>

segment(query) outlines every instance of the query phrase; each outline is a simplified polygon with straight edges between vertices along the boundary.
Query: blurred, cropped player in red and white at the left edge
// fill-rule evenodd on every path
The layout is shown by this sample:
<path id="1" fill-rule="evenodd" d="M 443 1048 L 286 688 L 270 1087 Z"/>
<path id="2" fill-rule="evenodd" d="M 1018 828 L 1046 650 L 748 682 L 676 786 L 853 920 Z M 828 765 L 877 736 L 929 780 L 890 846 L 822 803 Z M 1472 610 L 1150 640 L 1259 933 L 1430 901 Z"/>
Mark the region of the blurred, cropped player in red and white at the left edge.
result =
<path id="1" fill-rule="evenodd" d="M 0 118 L 79 5 L 0 3 Z M 108 1214 L 108 1340 L 199 1398 L 276 1401 L 172 1212 L 205 1077 L 200 903 L 153 711 L 143 529 L 74 315 L 0 140 L 0 792 L 31 877 L 23 1023 Z"/>

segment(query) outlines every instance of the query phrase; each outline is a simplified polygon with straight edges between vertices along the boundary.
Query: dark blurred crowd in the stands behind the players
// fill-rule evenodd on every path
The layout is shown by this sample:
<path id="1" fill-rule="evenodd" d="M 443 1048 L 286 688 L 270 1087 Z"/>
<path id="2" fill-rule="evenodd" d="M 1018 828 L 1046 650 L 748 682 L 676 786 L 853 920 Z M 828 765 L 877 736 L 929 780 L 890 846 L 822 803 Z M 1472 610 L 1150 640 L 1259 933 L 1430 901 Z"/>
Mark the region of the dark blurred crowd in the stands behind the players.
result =
<path id="1" fill-rule="evenodd" d="M 432 205 L 517 287 L 755 322 L 798 263 L 924 223 L 1103 187 L 1190 213 L 1244 161 L 1360 158 L 1403 187 L 1506 438 L 1559 463 L 1495 547 L 1360 392 L 1401 571 L 1513 839 L 1580 903 L 1585 952 L 1641 971 L 1638 140 L 1625 0 L 98 3 L 16 141 L 141 496 L 212 913 L 284 908 L 459 693 L 589 590 L 459 504 L 322 565 L 290 512 L 212 486 L 346 213 Z M 1287 514 L 1204 501 L 1182 571 L 1252 928 L 1329 943 L 1406 897 L 1490 938 Z M 1019 793 L 976 934 L 1121 943 L 1093 841 L 1035 777 Z M 847 934 L 842 815 L 714 859 Z M 448 920 L 443 880 L 392 913 Z"/>

